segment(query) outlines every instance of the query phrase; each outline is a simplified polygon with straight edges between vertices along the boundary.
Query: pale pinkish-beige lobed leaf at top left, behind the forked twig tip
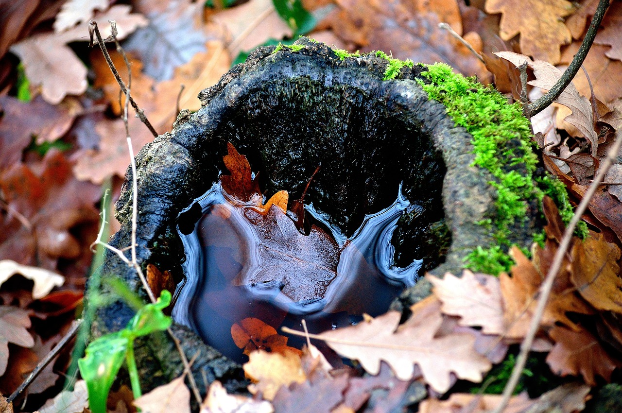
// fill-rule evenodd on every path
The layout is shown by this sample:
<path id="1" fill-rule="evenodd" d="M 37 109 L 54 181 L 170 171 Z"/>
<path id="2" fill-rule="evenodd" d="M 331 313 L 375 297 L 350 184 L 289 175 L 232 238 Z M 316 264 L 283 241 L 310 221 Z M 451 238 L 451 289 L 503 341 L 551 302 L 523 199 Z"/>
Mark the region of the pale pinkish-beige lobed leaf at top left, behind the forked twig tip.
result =
<path id="1" fill-rule="evenodd" d="M 117 22 L 118 39 L 137 27 L 147 24 L 140 14 L 131 14 L 131 6 L 117 4 L 107 12 L 98 13 L 102 37 L 110 34 L 109 20 Z M 29 37 L 11 46 L 19 56 L 31 85 L 41 85 L 41 95 L 52 104 L 58 104 L 67 95 L 81 95 L 86 90 L 86 67 L 67 46 L 69 42 L 88 41 L 88 22 L 60 34 L 43 33 Z"/>

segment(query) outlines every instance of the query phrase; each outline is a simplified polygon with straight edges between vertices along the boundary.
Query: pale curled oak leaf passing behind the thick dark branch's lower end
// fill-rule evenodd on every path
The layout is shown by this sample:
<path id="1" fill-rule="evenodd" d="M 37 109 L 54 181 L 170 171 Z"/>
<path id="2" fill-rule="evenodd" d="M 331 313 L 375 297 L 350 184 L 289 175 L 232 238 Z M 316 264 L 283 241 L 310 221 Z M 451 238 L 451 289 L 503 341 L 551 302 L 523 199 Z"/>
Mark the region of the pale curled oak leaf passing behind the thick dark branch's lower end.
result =
<path id="1" fill-rule="evenodd" d="M 536 60 L 534 62 L 529 57 L 519 53 L 497 52 L 495 54 L 501 58 L 509 60 L 509 62 L 514 63 L 516 67 L 519 67 L 519 65 L 526 62 L 527 66 L 534 71 L 534 76 L 536 76 L 536 80 L 530 80 L 527 84 L 536 86 L 543 90 L 550 90 L 550 88 L 557 83 L 557 80 L 559 80 L 563 74 L 561 70 L 548 62 L 544 62 L 542 60 Z M 565 121 L 576 126 L 583 133 L 583 136 L 585 136 L 588 141 L 590 141 L 590 144 L 592 144 L 592 155 L 596 156 L 598 136 L 596 136 L 596 132 L 594 131 L 594 119 L 592 104 L 590 104 L 590 101 L 587 100 L 585 96 L 580 96 L 577 88 L 575 88 L 571 82 L 570 85 L 562 91 L 559 98 L 557 98 L 555 102 L 567 106 L 567 108 L 572 111 L 572 114 L 567 116 Z"/>

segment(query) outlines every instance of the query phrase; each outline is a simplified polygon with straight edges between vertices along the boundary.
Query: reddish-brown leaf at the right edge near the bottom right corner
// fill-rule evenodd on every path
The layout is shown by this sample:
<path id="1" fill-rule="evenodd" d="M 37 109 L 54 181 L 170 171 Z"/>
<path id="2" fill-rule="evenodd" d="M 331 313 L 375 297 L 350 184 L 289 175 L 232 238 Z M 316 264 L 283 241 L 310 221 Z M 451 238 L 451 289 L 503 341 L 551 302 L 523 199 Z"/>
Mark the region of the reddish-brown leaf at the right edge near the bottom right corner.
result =
<path id="1" fill-rule="evenodd" d="M 609 381 L 613 370 L 622 366 L 622 361 L 611 358 L 598 339 L 587 330 L 573 332 L 556 326 L 549 335 L 555 340 L 555 346 L 546 362 L 553 373 L 559 376 L 581 374 L 585 383 L 596 386 L 596 374 Z"/>

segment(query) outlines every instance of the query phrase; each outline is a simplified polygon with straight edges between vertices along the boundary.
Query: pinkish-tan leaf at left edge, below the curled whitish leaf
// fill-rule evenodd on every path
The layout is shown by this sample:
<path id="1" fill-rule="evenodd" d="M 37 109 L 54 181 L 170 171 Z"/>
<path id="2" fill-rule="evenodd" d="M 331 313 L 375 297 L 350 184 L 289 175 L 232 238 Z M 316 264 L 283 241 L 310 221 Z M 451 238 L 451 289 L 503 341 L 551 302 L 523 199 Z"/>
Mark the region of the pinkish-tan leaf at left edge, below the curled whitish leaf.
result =
<path id="1" fill-rule="evenodd" d="M 30 312 L 17 307 L 0 305 L 0 376 L 6 371 L 9 361 L 9 343 L 22 347 L 35 345 L 30 327 Z"/>

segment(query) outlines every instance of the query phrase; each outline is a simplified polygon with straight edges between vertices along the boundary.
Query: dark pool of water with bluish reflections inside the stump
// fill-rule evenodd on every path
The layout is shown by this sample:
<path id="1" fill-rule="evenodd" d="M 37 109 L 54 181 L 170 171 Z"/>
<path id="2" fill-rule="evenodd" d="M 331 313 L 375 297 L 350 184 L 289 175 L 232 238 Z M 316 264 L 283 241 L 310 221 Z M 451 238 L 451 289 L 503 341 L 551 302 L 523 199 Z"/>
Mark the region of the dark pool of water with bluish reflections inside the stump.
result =
<path id="1" fill-rule="evenodd" d="M 304 319 L 311 333 L 319 333 L 357 323 L 363 313 L 384 313 L 404 287 L 415 284 L 421 267 L 421 261 L 406 268 L 392 266 L 391 235 L 409 208 L 400 194 L 390 207 L 366 216 L 346 239 L 312 205 L 307 207 L 312 220 L 337 241 L 341 254 L 337 275 L 323 281 L 323 297 L 295 302 L 282 293 L 282 285 L 248 282 L 249 274 L 261 270 L 257 251 L 265 245 L 244 208 L 233 207 L 216 183 L 180 215 L 187 279 L 177 289 L 173 317 L 225 356 L 244 362 L 248 358 L 231 337 L 233 323 L 244 318 L 259 318 L 280 334 L 284 326 L 302 330 Z M 288 342 L 302 344 L 298 337 Z"/>

